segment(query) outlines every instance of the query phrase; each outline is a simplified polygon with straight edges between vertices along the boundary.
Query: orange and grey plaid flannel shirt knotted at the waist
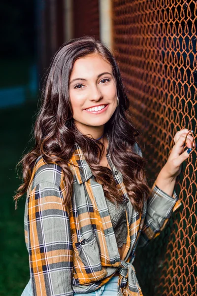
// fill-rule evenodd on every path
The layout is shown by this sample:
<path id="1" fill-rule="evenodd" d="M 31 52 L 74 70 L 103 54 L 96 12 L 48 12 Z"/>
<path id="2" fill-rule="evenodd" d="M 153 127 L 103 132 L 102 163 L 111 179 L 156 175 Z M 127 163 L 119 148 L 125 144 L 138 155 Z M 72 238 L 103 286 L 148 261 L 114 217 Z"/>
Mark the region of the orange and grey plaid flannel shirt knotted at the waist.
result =
<path id="1" fill-rule="evenodd" d="M 109 145 L 109 144 L 108 144 Z M 107 149 L 108 151 L 108 149 Z M 137 144 L 133 151 L 142 156 Z M 128 237 L 122 260 L 102 185 L 95 181 L 81 148 L 75 144 L 69 168 L 73 173 L 72 206 L 66 198 L 64 174 L 40 156 L 34 166 L 25 206 L 25 239 L 29 252 L 33 296 L 90 293 L 119 271 L 117 295 L 140 296 L 132 262 L 136 246 L 158 236 L 172 211 L 180 206 L 176 192 L 166 194 L 155 183 L 143 214 L 136 212 L 121 172 L 107 158 L 117 188 L 126 202 Z M 81 170 L 80 170 L 81 169 Z"/>

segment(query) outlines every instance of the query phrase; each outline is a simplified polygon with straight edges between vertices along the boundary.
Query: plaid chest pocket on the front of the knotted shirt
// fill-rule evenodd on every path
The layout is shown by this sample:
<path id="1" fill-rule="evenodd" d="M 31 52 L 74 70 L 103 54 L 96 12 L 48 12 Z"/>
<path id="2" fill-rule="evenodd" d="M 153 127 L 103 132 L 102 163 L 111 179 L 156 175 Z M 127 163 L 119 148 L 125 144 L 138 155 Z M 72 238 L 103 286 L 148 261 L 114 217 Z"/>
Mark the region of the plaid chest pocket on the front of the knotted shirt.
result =
<path id="1" fill-rule="evenodd" d="M 101 266 L 99 246 L 92 233 L 79 242 L 73 242 L 73 277 L 79 284 L 89 284 L 102 279 L 107 271 Z"/>

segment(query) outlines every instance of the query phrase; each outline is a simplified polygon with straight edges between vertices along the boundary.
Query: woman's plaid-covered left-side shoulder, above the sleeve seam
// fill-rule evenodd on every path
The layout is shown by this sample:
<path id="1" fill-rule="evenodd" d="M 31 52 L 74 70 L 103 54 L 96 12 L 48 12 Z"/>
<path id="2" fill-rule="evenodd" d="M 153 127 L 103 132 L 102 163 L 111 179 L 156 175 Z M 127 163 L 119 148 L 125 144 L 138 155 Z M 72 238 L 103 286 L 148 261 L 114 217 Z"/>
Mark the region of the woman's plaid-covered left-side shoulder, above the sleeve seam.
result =
<path id="1" fill-rule="evenodd" d="M 30 187 L 34 188 L 40 183 L 49 182 L 60 186 L 64 179 L 63 169 L 56 163 L 46 163 L 42 156 L 39 156 L 34 164 Z"/>

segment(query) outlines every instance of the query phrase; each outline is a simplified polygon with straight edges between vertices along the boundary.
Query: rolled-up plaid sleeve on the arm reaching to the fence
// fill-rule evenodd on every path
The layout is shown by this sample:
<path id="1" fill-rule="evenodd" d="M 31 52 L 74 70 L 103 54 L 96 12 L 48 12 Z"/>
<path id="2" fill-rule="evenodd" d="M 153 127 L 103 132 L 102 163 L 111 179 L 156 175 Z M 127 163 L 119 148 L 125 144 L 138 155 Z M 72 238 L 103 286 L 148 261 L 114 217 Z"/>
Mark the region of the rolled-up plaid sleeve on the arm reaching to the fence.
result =
<path id="1" fill-rule="evenodd" d="M 139 146 L 135 145 L 134 148 L 135 153 L 142 156 L 142 151 Z M 175 190 L 173 190 L 172 196 L 170 196 L 159 188 L 156 182 L 154 182 L 151 188 L 151 193 L 146 203 L 146 214 L 145 218 L 143 218 L 144 224 L 141 229 L 138 247 L 144 247 L 151 239 L 160 235 L 166 223 L 169 221 L 172 212 L 176 211 L 181 206 L 181 202 Z"/>

